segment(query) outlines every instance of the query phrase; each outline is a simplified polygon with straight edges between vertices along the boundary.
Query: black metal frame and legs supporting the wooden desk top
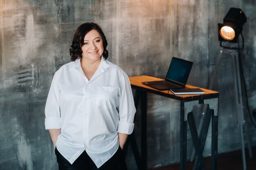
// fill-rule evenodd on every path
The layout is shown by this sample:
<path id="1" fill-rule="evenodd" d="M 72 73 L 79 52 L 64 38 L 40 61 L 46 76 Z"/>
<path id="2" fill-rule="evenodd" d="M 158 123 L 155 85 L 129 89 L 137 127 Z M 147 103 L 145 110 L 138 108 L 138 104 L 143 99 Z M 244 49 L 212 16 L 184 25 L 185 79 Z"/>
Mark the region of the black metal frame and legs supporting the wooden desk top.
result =
<path id="1" fill-rule="evenodd" d="M 132 86 L 132 88 L 134 88 Z M 148 92 L 148 91 L 147 91 Z M 131 144 L 135 161 L 138 170 L 147 169 L 147 92 L 143 88 L 136 88 L 135 93 L 135 107 L 138 108 L 139 100 L 141 100 L 141 157 L 139 156 L 138 147 L 135 136 L 131 134 L 124 146 L 124 153 L 126 155 L 128 144 Z M 153 93 L 153 92 L 152 92 Z M 155 93 L 156 94 L 156 93 Z M 159 95 L 159 94 L 158 94 Z M 163 95 L 164 96 L 164 95 Z M 167 96 L 166 96 L 167 97 Z M 197 104 L 208 104 L 207 111 L 204 116 L 202 130 L 198 137 L 195 119 L 193 116 L 193 106 Z M 187 161 L 187 122 L 191 130 L 193 145 L 195 148 L 195 161 L 193 170 L 206 170 L 202 152 L 204 150 L 207 132 L 209 130 L 210 122 L 212 122 L 211 135 L 211 170 L 217 170 L 217 155 L 218 155 L 218 97 L 207 97 L 199 100 L 192 100 L 185 102 L 180 101 L 180 170 L 186 170 Z"/>

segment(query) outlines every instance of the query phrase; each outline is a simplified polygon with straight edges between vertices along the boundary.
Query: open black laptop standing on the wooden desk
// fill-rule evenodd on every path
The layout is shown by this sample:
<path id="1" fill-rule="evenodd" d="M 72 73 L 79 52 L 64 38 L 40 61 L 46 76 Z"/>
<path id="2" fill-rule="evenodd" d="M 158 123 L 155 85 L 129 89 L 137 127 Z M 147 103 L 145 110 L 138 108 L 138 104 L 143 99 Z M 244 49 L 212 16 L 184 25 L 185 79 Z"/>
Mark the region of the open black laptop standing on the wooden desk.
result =
<path id="1" fill-rule="evenodd" d="M 173 57 L 167 71 L 165 80 L 142 82 L 157 90 L 170 90 L 171 88 L 185 88 L 193 62 Z"/>

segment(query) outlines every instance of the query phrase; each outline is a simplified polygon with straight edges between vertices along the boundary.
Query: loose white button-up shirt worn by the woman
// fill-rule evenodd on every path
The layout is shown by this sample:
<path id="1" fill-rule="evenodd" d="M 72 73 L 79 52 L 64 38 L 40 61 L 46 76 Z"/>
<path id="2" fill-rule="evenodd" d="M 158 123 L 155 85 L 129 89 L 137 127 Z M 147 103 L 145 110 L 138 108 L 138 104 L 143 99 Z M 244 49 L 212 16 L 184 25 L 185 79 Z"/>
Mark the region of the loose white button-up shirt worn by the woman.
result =
<path id="1" fill-rule="evenodd" d="M 56 148 L 71 164 L 85 150 L 99 168 L 117 151 L 117 132 L 132 133 L 135 112 L 130 82 L 121 68 L 102 57 L 88 81 L 78 59 L 53 77 L 45 129 L 61 129 Z"/>

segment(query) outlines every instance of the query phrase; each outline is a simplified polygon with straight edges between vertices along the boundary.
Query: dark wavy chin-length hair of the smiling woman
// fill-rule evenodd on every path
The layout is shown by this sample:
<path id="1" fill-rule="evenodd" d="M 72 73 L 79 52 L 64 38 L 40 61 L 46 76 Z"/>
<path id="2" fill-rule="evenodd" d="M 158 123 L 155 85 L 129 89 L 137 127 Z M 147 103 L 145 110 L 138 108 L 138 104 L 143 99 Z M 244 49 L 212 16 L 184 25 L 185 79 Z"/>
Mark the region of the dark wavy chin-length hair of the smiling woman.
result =
<path id="1" fill-rule="evenodd" d="M 70 49 L 70 57 L 72 61 L 75 61 L 76 59 L 82 58 L 82 49 L 81 47 L 83 46 L 83 41 L 84 41 L 84 37 L 85 35 L 91 31 L 91 30 L 96 30 L 99 32 L 99 34 L 101 35 L 102 41 L 103 41 L 103 58 L 106 60 L 108 58 L 108 50 L 106 49 L 108 46 L 108 42 L 106 40 L 106 37 L 103 33 L 103 31 L 101 30 L 101 26 L 99 26 L 98 24 L 95 24 L 93 22 L 86 22 L 81 24 L 77 29 L 76 32 L 74 34 L 74 39 L 72 41 L 72 45 Z"/>

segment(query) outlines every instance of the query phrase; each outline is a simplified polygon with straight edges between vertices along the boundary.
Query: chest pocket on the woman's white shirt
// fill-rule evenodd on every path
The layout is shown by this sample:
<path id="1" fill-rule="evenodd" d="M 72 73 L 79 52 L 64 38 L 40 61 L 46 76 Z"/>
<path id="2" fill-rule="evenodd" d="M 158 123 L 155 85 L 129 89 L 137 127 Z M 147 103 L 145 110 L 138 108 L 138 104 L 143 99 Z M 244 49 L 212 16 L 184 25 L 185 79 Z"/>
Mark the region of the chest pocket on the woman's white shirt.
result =
<path id="1" fill-rule="evenodd" d="M 110 86 L 97 87 L 97 95 L 95 104 L 104 108 L 117 107 L 118 88 Z"/>

